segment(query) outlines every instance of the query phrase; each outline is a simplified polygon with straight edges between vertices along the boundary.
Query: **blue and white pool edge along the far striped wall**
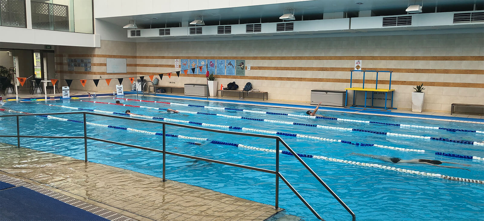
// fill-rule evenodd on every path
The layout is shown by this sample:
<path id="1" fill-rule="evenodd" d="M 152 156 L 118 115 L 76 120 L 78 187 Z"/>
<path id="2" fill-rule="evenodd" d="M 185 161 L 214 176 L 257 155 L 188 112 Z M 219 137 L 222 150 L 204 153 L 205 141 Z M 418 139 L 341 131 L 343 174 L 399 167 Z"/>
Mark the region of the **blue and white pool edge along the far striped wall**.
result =
<path id="1" fill-rule="evenodd" d="M 136 93 L 125 92 L 126 96 L 133 96 Z M 193 101 L 209 101 L 209 102 L 219 102 L 219 103 L 236 103 L 236 104 L 246 104 L 246 105 L 256 105 L 256 106 L 267 106 L 267 107 L 279 107 L 279 108 L 291 108 L 291 109 L 314 109 L 316 106 L 310 105 L 300 105 L 300 104 L 286 104 L 286 103 L 264 103 L 264 102 L 253 102 L 253 101 L 238 101 L 238 100 L 228 100 L 219 98 L 209 98 L 206 97 L 186 97 L 179 95 L 145 95 L 147 97 L 165 97 L 170 99 L 181 99 L 181 100 L 193 100 Z M 372 110 L 351 110 L 344 107 L 327 107 L 322 106 L 320 110 L 334 111 L 350 114 L 363 114 L 363 115 L 377 115 L 384 117 L 400 117 L 400 118 L 417 118 L 417 119 L 430 119 L 430 120 L 442 120 L 442 121 L 454 121 L 463 123 L 478 123 L 484 124 L 484 119 L 479 118 L 461 118 L 461 117 L 448 117 L 439 115 L 425 115 L 425 114 L 409 114 L 409 113 L 399 113 L 399 112 L 382 112 L 382 111 L 372 111 Z"/>

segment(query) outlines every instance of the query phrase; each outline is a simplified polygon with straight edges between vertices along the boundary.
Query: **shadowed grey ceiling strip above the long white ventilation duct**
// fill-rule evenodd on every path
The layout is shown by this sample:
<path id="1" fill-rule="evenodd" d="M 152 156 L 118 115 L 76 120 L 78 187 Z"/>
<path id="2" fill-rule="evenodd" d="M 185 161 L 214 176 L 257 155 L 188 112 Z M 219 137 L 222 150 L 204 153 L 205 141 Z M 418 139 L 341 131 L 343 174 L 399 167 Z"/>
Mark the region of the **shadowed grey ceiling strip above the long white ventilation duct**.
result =
<path id="1" fill-rule="evenodd" d="M 363 4 L 357 4 L 362 2 Z M 443 11 L 471 11 L 474 4 L 477 10 L 482 10 L 484 3 L 482 0 L 310 0 L 290 3 L 267 4 L 257 6 L 222 8 L 201 11 L 185 11 L 175 13 L 134 15 L 120 17 L 98 18 L 120 27 L 126 25 L 129 20 L 136 19 L 139 28 L 160 28 L 178 27 L 181 22 L 191 22 L 197 15 L 203 15 L 206 25 L 258 23 L 259 18 L 262 22 L 278 22 L 278 19 L 286 8 L 294 8 L 296 20 L 322 19 L 323 13 L 347 12 L 357 16 L 358 11 L 372 10 L 376 15 L 404 15 L 408 5 L 423 5 L 423 13 Z M 156 19 L 153 19 L 156 18 Z"/>

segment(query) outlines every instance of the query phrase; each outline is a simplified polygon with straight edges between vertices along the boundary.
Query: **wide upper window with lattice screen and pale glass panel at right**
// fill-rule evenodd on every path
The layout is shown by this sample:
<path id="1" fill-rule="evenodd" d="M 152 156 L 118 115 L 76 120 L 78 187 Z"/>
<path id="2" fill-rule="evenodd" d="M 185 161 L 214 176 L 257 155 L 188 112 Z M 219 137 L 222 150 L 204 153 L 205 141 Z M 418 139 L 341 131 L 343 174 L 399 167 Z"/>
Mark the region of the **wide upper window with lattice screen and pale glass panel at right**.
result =
<path id="1" fill-rule="evenodd" d="M 93 33 L 92 0 L 30 0 L 32 29 Z"/>

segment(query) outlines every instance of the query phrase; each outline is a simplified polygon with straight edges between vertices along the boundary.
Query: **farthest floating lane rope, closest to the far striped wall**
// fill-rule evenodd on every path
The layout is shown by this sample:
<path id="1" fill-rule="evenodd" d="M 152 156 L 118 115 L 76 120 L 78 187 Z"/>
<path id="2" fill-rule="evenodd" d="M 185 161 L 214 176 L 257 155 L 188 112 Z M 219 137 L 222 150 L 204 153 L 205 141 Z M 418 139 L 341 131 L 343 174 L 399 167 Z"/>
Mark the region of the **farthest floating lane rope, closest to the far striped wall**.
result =
<path id="1" fill-rule="evenodd" d="M 430 126 L 420 126 L 420 125 L 383 123 L 383 122 L 376 122 L 376 121 L 369 121 L 369 120 L 353 120 L 353 119 L 345 119 L 345 118 L 328 118 L 328 117 L 318 117 L 318 116 L 295 115 L 295 114 L 274 113 L 274 112 L 267 112 L 267 111 L 253 111 L 253 110 L 229 108 L 229 107 L 225 107 L 225 108 L 224 107 L 212 107 L 212 106 L 185 104 L 185 103 L 145 101 L 145 100 L 127 99 L 127 98 L 113 98 L 113 99 L 123 99 L 123 100 L 126 100 L 126 101 L 138 101 L 138 102 L 150 102 L 150 103 L 166 103 L 166 104 L 173 104 L 173 105 L 180 105 L 180 106 L 202 107 L 202 108 L 206 108 L 206 109 L 234 110 L 234 111 L 258 113 L 258 114 L 282 115 L 282 116 L 299 117 L 299 118 L 318 118 L 318 119 L 338 120 L 338 121 L 347 121 L 347 122 L 359 122 L 359 123 L 368 123 L 368 124 L 382 124 L 382 125 L 397 126 L 397 127 L 400 127 L 400 128 L 423 128 L 423 129 L 445 130 L 445 131 L 448 131 L 448 132 L 459 131 L 459 132 L 468 132 L 468 133 L 484 133 L 484 131 L 476 131 L 476 130 L 462 130 L 462 129 L 443 128 L 443 127 L 430 127 Z M 84 101 L 84 100 L 82 100 L 82 101 Z M 85 102 L 91 102 L 91 101 L 85 101 Z M 145 107 L 145 106 L 142 106 L 142 107 Z M 148 108 L 154 108 L 154 107 L 148 107 Z M 156 108 L 154 108 L 154 109 L 156 109 Z"/>

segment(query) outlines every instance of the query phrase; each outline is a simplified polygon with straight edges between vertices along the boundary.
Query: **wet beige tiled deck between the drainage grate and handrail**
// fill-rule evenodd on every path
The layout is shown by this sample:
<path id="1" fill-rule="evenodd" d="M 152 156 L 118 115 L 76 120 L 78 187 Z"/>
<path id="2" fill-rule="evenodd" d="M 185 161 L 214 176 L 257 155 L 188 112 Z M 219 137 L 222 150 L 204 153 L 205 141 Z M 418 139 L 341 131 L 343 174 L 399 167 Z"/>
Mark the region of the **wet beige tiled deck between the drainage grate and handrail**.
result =
<path id="1" fill-rule="evenodd" d="M 253 221 L 273 206 L 172 180 L 0 143 L 0 174 L 140 221 Z"/>

